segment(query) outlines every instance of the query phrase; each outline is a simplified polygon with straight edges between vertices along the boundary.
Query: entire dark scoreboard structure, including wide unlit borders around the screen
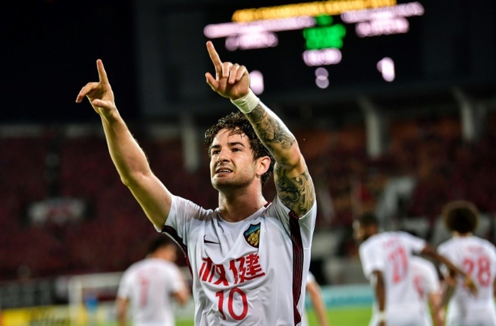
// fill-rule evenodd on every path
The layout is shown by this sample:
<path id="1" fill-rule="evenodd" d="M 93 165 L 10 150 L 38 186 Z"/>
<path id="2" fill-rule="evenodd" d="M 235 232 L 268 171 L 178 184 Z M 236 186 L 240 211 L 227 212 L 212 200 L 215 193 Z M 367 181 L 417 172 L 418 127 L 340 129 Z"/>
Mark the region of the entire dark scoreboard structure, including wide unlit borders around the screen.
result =
<path id="1" fill-rule="evenodd" d="M 150 3 L 155 3 L 152 6 Z M 251 87 L 282 105 L 496 80 L 494 0 L 138 1 L 145 114 L 222 102 L 205 41 L 247 66 Z"/>

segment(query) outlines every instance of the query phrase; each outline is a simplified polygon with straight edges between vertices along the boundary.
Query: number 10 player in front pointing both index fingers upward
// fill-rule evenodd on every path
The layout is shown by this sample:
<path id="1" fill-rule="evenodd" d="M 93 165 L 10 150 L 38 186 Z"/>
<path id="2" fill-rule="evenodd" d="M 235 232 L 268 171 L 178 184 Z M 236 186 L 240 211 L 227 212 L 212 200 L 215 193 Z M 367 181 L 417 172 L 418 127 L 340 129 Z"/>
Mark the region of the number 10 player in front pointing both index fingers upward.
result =
<path id="1" fill-rule="evenodd" d="M 84 86 L 76 102 L 87 97 L 100 114 L 122 181 L 156 229 L 185 251 L 195 325 L 300 325 L 316 216 L 307 165 L 294 135 L 249 89 L 247 68 L 221 61 L 210 41 L 207 51 L 215 67 L 207 84 L 241 111 L 205 133 L 215 210 L 173 195 L 153 174 L 116 108 L 101 60 L 100 81 Z M 272 167 L 277 196 L 267 201 L 262 186 Z"/>

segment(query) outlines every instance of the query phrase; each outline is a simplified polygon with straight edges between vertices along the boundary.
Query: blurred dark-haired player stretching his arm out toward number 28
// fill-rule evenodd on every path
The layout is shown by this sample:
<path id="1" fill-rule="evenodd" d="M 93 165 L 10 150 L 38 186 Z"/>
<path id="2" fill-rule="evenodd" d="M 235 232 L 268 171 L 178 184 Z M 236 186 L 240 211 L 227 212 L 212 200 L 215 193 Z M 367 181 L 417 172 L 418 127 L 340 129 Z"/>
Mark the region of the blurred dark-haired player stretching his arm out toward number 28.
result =
<path id="1" fill-rule="evenodd" d="M 375 303 L 370 326 L 425 326 L 423 304 L 415 289 L 411 260 L 420 253 L 442 262 L 465 283 L 477 289 L 467 273 L 438 255 L 426 241 L 402 231 L 381 231 L 377 218 L 364 214 L 354 223 L 355 238 L 365 276 L 374 288 Z"/>

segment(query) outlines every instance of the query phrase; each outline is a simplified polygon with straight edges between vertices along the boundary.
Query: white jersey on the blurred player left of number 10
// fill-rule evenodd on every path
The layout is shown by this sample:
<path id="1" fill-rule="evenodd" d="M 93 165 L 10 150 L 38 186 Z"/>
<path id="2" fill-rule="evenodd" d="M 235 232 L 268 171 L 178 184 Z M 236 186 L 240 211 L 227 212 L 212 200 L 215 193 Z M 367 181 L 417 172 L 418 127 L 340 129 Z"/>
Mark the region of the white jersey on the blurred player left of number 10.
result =
<path id="1" fill-rule="evenodd" d="M 174 263 L 146 258 L 124 272 L 117 297 L 129 299 L 134 326 L 173 326 L 172 294 L 185 286 Z"/>

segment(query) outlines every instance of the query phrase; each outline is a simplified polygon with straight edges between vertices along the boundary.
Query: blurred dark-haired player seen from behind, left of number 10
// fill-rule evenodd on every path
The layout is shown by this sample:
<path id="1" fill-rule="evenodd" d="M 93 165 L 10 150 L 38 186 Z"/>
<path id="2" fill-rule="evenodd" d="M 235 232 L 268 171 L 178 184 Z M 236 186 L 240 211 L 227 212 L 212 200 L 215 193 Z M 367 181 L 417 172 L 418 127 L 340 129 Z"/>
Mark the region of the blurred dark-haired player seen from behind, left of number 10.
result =
<path id="1" fill-rule="evenodd" d="M 150 241 L 145 259 L 132 264 L 123 274 L 117 293 L 119 326 L 127 323 L 128 308 L 134 326 L 174 326 L 172 300 L 181 305 L 189 299 L 189 290 L 174 263 L 178 246 L 168 236 Z"/>

